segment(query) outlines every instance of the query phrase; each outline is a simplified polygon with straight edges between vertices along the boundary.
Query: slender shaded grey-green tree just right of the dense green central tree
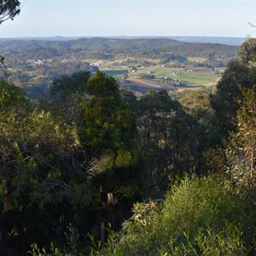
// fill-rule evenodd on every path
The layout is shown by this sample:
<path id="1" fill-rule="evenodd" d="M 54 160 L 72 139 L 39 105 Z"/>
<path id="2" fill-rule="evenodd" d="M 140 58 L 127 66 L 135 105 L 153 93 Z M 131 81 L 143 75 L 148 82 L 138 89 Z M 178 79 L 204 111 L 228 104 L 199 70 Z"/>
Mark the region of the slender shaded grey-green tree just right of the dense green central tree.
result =
<path id="1" fill-rule="evenodd" d="M 172 170 L 170 130 L 178 108 L 166 90 L 149 90 L 138 101 L 139 138 L 147 155 L 148 193 L 153 195 L 166 189 L 166 176 Z"/>

